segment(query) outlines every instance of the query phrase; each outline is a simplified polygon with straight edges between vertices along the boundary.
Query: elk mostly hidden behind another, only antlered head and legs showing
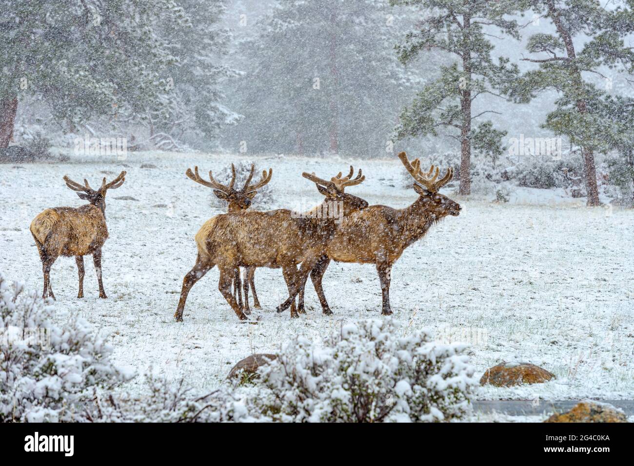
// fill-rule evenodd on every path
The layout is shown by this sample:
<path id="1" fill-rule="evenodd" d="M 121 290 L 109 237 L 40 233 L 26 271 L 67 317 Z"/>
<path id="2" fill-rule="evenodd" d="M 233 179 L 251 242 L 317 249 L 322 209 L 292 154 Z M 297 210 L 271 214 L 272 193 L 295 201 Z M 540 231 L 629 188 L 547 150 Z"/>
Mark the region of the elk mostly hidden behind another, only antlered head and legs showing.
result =
<path id="1" fill-rule="evenodd" d="M 191 180 L 202 184 L 202 186 L 207 186 L 214 189 L 214 194 L 218 199 L 222 199 L 223 201 L 228 202 L 227 211 L 229 212 L 240 212 L 243 210 L 247 210 L 251 206 L 251 199 L 253 199 L 257 190 L 262 186 L 268 184 L 271 181 L 271 177 L 273 176 L 273 168 L 269 168 L 268 174 L 266 170 L 262 171 L 262 179 L 256 184 L 250 184 L 253 179 L 254 171 L 256 170 L 255 165 L 251 165 L 251 171 L 249 173 L 249 177 L 245 181 L 242 189 L 234 189 L 235 180 L 236 180 L 236 169 L 233 163 L 231 164 L 231 181 L 228 185 L 221 184 L 214 180 L 212 173 L 209 172 L 209 181 L 204 180 L 198 174 L 198 167 L 194 167 L 194 172 L 191 171 L 191 168 L 188 168 L 185 172 Z M 244 280 L 244 305 L 242 304 L 242 293 L 240 292 L 240 271 L 236 272 L 236 275 L 233 279 L 233 294 L 234 296 L 238 296 L 238 306 L 243 308 L 245 314 L 250 314 L 249 309 L 249 285 L 253 291 L 253 305 L 256 309 L 260 309 L 260 301 L 257 299 L 256 293 L 256 282 L 255 282 L 255 274 L 256 267 L 247 267 L 245 270 L 245 280 Z"/>

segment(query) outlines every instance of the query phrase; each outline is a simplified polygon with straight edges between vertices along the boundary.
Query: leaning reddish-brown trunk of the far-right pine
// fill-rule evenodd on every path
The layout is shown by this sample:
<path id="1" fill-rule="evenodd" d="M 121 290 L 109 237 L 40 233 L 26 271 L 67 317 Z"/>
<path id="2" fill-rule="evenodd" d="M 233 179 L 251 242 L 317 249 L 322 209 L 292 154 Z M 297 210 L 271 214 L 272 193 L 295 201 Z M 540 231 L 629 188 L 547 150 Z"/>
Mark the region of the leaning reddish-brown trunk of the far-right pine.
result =
<path id="1" fill-rule="evenodd" d="M 555 23 L 555 27 L 557 28 L 557 32 L 561 37 L 562 41 L 564 41 L 564 45 L 566 46 L 566 54 L 568 58 L 574 60 L 577 56 L 574 50 L 573 37 L 570 35 L 568 30 L 564 27 L 564 24 L 561 22 L 561 18 L 559 16 L 560 11 L 555 7 L 554 0 L 547 1 L 548 6 L 548 15 Z M 578 68 L 571 68 L 571 78 L 573 82 L 576 84 L 576 88 L 578 92 L 581 92 L 583 89 L 583 82 L 581 78 L 581 72 Z M 578 99 L 576 101 L 577 111 L 581 113 L 581 115 L 585 115 L 587 113 L 588 108 L 586 106 L 586 101 L 584 99 Z M 595 166 L 594 161 L 594 153 L 592 148 L 583 147 L 583 174 L 586 178 L 586 191 L 588 191 L 588 201 L 586 205 L 588 206 L 600 206 L 601 203 L 598 200 L 598 186 L 597 186 L 597 167 Z"/>

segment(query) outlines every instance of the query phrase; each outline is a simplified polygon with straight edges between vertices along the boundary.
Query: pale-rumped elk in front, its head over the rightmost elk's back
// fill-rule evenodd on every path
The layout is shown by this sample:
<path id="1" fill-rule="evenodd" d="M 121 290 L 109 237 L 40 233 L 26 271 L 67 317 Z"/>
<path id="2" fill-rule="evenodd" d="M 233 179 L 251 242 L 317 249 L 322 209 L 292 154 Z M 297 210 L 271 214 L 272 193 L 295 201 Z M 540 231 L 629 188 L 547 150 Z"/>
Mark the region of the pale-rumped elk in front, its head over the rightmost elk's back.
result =
<path id="1" fill-rule="evenodd" d="M 231 280 L 239 267 L 281 267 L 289 296 L 278 306 L 278 312 L 294 302 L 302 280 L 306 280 L 318 259 L 325 254 L 328 242 L 339 226 L 337 218 L 330 215 L 333 206 L 343 207 L 340 214 L 344 218 L 368 206 L 365 200 L 344 192 L 346 186 L 365 180 L 361 170 L 355 179 L 342 178 L 341 173 L 330 181 L 318 178 L 314 173 L 304 172 L 302 176 L 313 181 L 325 196 L 313 210 L 301 215 L 287 209 L 229 212 L 216 215 L 202 225 L 196 234 L 196 263 L 183 279 L 181 298 L 174 313 L 177 321 L 183 320 L 191 287 L 214 265 L 220 270 L 218 289 L 240 320 L 247 317 L 231 294 Z M 327 212 L 327 218 L 323 218 L 323 212 Z M 293 307 L 291 317 L 298 317 Z"/>

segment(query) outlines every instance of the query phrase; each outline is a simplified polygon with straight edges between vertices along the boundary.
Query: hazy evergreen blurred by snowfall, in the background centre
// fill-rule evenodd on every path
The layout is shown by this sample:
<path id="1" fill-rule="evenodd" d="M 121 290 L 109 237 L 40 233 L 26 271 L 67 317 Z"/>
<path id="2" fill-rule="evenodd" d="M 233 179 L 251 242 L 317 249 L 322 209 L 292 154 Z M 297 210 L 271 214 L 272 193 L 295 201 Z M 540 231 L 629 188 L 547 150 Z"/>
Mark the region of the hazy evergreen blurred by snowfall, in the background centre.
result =
<path id="1" fill-rule="evenodd" d="M 385 154 L 403 79 L 385 6 L 280 0 L 243 44 L 233 105 L 245 118 L 232 137 L 249 151 Z"/>

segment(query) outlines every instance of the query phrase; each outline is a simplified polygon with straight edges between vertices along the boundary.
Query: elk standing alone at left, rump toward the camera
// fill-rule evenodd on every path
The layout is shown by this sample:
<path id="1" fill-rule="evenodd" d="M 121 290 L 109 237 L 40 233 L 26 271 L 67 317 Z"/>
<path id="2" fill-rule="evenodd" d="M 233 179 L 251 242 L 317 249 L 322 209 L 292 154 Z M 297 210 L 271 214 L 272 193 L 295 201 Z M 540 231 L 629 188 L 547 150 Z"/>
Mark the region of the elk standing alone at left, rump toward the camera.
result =
<path id="1" fill-rule="evenodd" d="M 80 199 L 88 204 L 78 208 L 56 207 L 39 213 L 31 222 L 30 230 L 36 241 L 37 251 L 42 260 L 44 272 L 44 293 L 55 299 L 49 274 L 51 266 L 59 256 L 75 256 L 79 272 L 79 293 L 77 298 L 84 297 L 84 256 L 92 254 L 94 270 L 99 282 L 99 297 L 107 298 L 101 280 L 101 246 L 108 239 L 106 227 L 106 192 L 124 184 L 126 172 L 121 172 L 110 183 L 103 179 L 98 190 L 92 189 L 87 180 L 81 185 L 67 176 L 63 180 L 73 191 L 77 191 Z"/>

